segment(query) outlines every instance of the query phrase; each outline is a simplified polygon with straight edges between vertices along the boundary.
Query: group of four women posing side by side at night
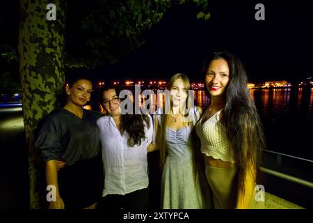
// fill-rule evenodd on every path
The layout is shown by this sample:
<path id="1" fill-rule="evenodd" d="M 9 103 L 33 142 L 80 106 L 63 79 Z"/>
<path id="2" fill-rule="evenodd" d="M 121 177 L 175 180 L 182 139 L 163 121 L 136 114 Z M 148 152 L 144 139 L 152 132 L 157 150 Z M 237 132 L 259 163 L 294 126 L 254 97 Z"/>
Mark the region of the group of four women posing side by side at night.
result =
<path id="1" fill-rule="evenodd" d="M 87 111 L 90 80 L 67 82 L 65 106 L 49 114 L 36 141 L 47 185 L 56 186 L 49 208 L 149 208 L 150 151 L 160 155 L 160 208 L 263 208 L 255 184 L 264 135 L 246 71 L 236 56 L 218 52 L 204 75 L 204 112 L 178 73 L 166 105 L 152 116 L 122 114 L 116 86 L 102 89 L 106 115 Z"/>

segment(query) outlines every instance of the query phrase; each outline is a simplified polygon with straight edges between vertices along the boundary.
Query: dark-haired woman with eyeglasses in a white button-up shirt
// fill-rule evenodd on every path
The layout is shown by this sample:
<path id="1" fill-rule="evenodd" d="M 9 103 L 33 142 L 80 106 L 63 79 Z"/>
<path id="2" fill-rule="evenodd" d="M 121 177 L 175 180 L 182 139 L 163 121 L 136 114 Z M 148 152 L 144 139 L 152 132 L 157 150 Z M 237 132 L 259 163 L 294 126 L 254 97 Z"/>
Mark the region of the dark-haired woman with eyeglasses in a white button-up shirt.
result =
<path id="1" fill-rule="evenodd" d="M 100 93 L 109 114 L 97 121 L 105 175 L 100 208 L 149 208 L 147 146 L 152 141 L 152 118 L 122 114 L 117 86 L 105 86 Z"/>

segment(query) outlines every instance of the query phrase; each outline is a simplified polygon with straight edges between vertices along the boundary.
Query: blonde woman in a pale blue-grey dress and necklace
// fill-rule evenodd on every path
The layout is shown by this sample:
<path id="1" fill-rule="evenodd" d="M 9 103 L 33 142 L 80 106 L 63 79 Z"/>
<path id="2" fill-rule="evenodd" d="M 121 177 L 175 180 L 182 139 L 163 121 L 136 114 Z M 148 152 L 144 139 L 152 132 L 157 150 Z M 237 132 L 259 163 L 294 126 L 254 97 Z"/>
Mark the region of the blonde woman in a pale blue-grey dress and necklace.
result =
<path id="1" fill-rule="evenodd" d="M 160 149 L 161 208 L 211 208 L 209 187 L 204 172 L 193 162 L 195 141 L 193 127 L 201 107 L 193 106 L 189 79 L 182 73 L 172 76 L 168 84 L 170 100 L 157 111 L 155 119 L 157 144 Z M 166 114 L 169 107 L 169 114 Z"/>

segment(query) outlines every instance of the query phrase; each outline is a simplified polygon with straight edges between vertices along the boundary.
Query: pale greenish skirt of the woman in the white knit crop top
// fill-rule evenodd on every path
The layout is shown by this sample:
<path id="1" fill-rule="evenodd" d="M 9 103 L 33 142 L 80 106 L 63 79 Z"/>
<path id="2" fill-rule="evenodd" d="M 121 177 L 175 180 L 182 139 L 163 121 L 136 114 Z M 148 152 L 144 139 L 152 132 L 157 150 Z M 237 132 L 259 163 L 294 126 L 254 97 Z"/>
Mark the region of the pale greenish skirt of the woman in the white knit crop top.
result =
<path id="1" fill-rule="evenodd" d="M 232 209 L 236 207 L 239 171 L 237 167 L 217 168 L 205 165 L 205 175 L 211 187 L 215 209 Z M 255 190 L 249 208 L 263 209 L 264 201 L 256 201 Z"/>

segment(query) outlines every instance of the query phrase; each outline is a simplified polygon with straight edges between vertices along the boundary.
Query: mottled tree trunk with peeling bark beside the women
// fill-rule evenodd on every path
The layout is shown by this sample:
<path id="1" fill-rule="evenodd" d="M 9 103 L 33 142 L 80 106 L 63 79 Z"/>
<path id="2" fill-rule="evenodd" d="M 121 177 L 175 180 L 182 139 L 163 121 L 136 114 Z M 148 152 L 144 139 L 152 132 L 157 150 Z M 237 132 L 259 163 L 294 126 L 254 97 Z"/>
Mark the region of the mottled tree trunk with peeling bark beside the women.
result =
<path id="1" fill-rule="evenodd" d="M 48 3 L 56 5 L 56 20 L 47 20 Z M 63 86 L 64 26 L 62 0 L 20 0 L 19 72 L 29 154 L 30 208 L 45 205 L 44 166 L 34 142 L 40 122 L 54 109 Z"/>

